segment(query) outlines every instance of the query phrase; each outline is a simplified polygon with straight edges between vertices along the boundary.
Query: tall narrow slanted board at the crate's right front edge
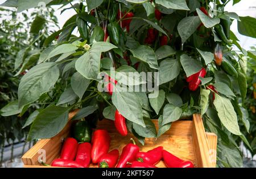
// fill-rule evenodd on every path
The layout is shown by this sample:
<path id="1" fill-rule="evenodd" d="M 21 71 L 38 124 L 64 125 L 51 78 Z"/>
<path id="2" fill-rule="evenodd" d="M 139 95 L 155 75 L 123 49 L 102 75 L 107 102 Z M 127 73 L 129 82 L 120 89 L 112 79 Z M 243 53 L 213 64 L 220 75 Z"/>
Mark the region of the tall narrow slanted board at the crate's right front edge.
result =
<path id="1" fill-rule="evenodd" d="M 210 168 L 212 162 L 210 161 L 210 149 L 207 136 L 204 130 L 203 120 L 200 114 L 193 114 L 192 127 L 193 144 L 195 147 L 196 164 L 199 168 Z"/>

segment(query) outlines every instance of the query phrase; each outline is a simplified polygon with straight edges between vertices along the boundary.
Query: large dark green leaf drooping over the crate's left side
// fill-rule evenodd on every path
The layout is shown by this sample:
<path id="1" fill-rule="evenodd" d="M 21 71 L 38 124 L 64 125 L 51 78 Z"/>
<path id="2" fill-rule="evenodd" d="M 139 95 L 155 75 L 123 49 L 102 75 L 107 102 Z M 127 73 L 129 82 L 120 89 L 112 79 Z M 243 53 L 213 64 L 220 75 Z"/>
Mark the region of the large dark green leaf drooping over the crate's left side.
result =
<path id="1" fill-rule="evenodd" d="M 42 110 L 31 125 L 28 140 L 48 139 L 58 134 L 68 122 L 69 109 L 48 106 Z"/>

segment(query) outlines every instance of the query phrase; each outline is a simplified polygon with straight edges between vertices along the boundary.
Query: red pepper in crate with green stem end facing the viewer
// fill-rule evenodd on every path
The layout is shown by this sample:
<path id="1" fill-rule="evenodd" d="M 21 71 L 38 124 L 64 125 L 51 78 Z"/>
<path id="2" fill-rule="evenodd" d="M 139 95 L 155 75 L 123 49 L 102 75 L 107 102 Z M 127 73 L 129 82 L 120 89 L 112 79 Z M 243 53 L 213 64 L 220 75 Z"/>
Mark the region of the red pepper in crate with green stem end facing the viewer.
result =
<path id="1" fill-rule="evenodd" d="M 100 161 L 98 162 L 99 168 L 114 168 L 117 164 L 117 160 L 119 157 L 119 151 L 114 149 L 110 151 L 108 154 L 105 154 L 101 157 Z"/>

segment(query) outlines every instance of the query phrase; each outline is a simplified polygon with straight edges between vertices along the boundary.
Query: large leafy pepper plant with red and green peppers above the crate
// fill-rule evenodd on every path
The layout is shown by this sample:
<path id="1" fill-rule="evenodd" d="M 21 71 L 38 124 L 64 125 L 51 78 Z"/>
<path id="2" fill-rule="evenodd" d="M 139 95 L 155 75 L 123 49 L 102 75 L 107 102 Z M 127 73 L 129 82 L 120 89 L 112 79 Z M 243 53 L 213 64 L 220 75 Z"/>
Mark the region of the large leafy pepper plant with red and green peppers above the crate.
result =
<path id="1" fill-rule="evenodd" d="M 118 120 L 116 126 L 125 124 L 118 131 L 126 135 L 127 127 L 142 144 L 160 137 L 172 122 L 200 113 L 205 128 L 218 135 L 218 166 L 242 166 L 238 141 L 248 143 L 240 129 L 249 122 L 241 56 L 247 52 L 230 24 L 236 20 L 242 35 L 255 37 L 254 18 L 225 11 L 229 0 L 42 2 L 69 3 L 76 15 L 44 40 L 38 65 L 20 80 L 18 101 L 8 106 L 17 113 L 39 106 L 27 121 L 29 140 L 59 133 L 73 109 L 80 109 L 73 120 L 86 118 L 93 125 L 102 118 Z M 31 0 L 12 6 L 22 11 L 36 5 Z M 76 27 L 80 35 L 74 35 Z M 158 72 L 153 84 L 158 96 L 148 89 L 121 90 L 118 84 L 133 89 L 147 83 L 141 80 L 144 72 Z M 100 73 L 107 76 L 104 92 L 98 88 Z M 139 80 L 126 83 L 129 73 Z M 158 132 L 152 118 L 159 119 Z"/>

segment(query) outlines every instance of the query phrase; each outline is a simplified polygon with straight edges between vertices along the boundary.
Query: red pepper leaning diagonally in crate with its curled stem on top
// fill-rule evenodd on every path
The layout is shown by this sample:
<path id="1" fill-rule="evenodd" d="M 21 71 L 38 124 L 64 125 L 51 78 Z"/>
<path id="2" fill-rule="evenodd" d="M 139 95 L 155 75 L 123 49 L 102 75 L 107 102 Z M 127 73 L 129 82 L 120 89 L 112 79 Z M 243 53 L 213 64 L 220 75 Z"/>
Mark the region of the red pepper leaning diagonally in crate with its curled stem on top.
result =
<path id="1" fill-rule="evenodd" d="M 125 147 L 123 147 L 122 154 L 117 164 L 117 168 L 125 168 L 127 162 L 131 163 L 135 161 L 138 152 L 139 147 L 135 144 L 134 140 L 133 143 L 129 143 Z"/>

